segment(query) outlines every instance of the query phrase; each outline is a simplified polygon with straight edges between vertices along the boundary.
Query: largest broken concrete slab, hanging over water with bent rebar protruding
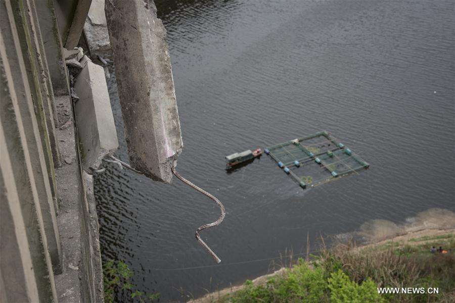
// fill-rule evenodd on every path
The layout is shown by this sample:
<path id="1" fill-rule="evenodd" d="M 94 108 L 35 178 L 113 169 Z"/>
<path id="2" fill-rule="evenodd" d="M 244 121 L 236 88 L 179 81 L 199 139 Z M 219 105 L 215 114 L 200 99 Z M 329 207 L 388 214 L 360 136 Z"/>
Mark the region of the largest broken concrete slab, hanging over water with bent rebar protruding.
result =
<path id="1" fill-rule="evenodd" d="M 166 29 L 153 1 L 106 1 L 131 166 L 169 183 L 183 148 Z"/>

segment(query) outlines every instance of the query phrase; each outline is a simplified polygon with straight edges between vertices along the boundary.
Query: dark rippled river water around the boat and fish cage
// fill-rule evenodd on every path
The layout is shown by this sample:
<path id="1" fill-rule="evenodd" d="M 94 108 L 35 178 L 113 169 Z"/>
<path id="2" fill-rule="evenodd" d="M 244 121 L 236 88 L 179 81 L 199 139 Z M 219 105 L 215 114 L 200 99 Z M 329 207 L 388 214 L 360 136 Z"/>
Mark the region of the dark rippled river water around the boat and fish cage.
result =
<path id="1" fill-rule="evenodd" d="M 161 1 L 189 186 L 107 165 L 95 181 L 103 258 L 133 284 L 184 301 L 267 273 L 280 254 L 369 220 L 455 210 L 453 1 Z M 111 70 L 109 89 L 127 161 Z M 302 190 L 267 156 L 231 174 L 224 156 L 327 130 L 371 168 Z M 288 252 L 286 252 L 286 250 Z M 280 262 L 279 259 L 275 259 Z M 119 299 L 121 294 L 119 294 Z M 124 299 L 124 298 L 123 298 Z"/>

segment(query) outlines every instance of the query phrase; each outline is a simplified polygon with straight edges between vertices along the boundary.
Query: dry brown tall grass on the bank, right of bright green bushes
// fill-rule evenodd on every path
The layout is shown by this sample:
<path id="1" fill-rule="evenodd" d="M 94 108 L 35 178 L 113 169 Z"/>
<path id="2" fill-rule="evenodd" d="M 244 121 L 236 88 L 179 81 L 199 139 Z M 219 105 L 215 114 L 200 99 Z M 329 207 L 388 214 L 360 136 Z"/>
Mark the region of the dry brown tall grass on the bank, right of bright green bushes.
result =
<path id="1" fill-rule="evenodd" d="M 453 254 L 431 254 L 430 245 L 387 249 L 358 249 L 351 242 L 338 243 L 323 250 L 321 265 L 327 272 L 342 269 L 357 283 L 368 278 L 378 287 L 439 287 L 439 294 L 385 295 L 391 302 L 427 302 L 455 296 L 455 257 Z M 455 244 L 449 243 L 453 251 Z"/>

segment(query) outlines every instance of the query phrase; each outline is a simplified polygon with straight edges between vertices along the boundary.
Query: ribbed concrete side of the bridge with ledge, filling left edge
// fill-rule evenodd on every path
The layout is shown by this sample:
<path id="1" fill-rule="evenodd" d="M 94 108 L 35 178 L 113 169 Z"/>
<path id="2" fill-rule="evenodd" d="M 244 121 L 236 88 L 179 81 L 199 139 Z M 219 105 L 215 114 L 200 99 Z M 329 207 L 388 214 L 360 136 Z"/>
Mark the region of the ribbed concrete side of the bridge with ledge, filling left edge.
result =
<path id="1" fill-rule="evenodd" d="M 43 25 L 49 20 L 40 6 L 45 3 L 0 0 L 0 301 L 103 302 L 92 176 L 81 170 L 74 125 L 55 129 L 54 105 L 64 105 L 58 116 L 64 122 L 73 115 L 72 100 L 68 90 L 54 100 L 46 55 L 47 47 L 58 53 L 58 41 L 42 41 L 52 22 Z M 63 67 L 62 83 L 68 81 Z M 63 150 L 61 167 L 54 165 L 60 155 L 52 140 Z"/>

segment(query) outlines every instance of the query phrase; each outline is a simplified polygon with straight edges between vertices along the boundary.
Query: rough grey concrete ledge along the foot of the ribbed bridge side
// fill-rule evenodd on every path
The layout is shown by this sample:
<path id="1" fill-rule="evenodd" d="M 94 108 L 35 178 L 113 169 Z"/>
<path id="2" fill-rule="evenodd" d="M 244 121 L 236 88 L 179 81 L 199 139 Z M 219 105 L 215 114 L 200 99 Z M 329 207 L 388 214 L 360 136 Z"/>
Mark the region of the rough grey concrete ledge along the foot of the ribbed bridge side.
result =
<path id="1" fill-rule="evenodd" d="M 56 98 L 61 125 L 58 130 L 62 157 L 56 171 L 61 212 L 57 217 L 63 251 L 63 273 L 55 276 L 59 302 L 103 302 L 103 278 L 98 218 L 93 183 L 81 177 L 76 131 L 69 95 Z"/>

